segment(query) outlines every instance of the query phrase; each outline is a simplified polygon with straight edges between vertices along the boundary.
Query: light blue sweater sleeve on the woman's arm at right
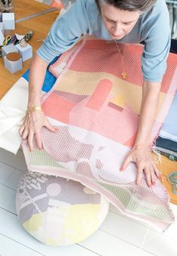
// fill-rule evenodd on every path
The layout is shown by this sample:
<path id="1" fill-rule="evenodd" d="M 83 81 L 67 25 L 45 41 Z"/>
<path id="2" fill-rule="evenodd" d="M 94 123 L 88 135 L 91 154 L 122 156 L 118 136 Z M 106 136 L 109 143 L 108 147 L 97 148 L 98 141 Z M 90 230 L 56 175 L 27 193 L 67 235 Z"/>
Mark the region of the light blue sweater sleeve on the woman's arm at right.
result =
<path id="1" fill-rule="evenodd" d="M 142 54 L 142 73 L 144 79 L 150 82 L 161 82 L 166 72 L 166 59 L 171 43 L 169 13 L 165 1 L 160 1 L 157 14 L 145 24 L 145 48 Z M 155 10 L 154 10 L 155 11 Z"/>

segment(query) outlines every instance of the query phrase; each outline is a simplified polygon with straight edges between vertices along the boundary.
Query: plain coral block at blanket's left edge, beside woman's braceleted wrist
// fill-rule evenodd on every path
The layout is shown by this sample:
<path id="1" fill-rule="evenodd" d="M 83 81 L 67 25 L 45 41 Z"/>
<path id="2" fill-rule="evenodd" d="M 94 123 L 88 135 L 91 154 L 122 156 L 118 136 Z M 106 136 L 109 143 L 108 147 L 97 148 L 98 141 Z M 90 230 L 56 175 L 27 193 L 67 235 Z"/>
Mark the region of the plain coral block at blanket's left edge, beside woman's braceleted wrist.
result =
<path id="1" fill-rule="evenodd" d="M 73 106 L 75 106 L 75 103 L 71 103 L 56 94 L 50 94 L 50 96 L 44 101 L 42 109 L 46 116 L 68 124 L 69 113 Z"/>

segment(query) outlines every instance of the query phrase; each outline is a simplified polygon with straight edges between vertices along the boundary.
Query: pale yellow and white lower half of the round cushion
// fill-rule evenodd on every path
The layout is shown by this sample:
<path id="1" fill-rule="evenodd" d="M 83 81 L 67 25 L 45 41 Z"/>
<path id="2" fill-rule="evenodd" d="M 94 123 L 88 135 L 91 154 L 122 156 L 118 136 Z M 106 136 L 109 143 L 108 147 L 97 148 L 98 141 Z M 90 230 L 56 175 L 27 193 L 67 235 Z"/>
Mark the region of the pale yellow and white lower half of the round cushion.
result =
<path id="1" fill-rule="evenodd" d="M 87 239 L 102 223 L 100 205 L 63 205 L 33 214 L 23 227 L 46 245 L 71 245 Z"/>

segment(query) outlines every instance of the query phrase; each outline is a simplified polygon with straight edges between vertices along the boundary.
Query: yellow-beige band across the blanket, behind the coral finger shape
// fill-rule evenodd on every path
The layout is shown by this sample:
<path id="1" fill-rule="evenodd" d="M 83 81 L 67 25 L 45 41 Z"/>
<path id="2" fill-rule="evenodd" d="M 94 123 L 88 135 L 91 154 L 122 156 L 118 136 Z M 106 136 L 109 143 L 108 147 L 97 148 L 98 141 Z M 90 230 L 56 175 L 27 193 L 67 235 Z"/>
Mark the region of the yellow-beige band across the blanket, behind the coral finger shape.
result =
<path id="1" fill-rule="evenodd" d="M 73 94 L 91 95 L 96 89 L 96 85 L 101 79 L 109 79 L 113 84 L 111 90 L 111 103 L 124 108 L 127 103 L 134 112 L 139 115 L 142 87 L 133 85 L 130 82 L 118 79 L 116 76 L 106 72 L 75 72 L 69 70 L 63 77 L 60 85 L 56 88 L 58 91 L 66 91 Z M 157 113 L 159 112 L 166 94 L 160 92 L 160 100 Z"/>

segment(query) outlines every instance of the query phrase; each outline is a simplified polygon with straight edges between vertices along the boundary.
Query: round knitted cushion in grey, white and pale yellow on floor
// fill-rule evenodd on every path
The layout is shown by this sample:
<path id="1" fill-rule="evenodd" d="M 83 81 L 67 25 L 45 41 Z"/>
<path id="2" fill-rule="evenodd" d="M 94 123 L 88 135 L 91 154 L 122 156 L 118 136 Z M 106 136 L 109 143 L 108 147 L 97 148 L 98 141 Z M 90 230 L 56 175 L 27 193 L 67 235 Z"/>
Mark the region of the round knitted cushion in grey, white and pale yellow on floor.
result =
<path id="1" fill-rule="evenodd" d="M 16 198 L 23 227 L 46 245 L 87 239 L 108 214 L 108 201 L 74 180 L 26 171 Z"/>

